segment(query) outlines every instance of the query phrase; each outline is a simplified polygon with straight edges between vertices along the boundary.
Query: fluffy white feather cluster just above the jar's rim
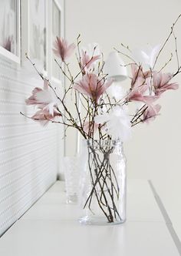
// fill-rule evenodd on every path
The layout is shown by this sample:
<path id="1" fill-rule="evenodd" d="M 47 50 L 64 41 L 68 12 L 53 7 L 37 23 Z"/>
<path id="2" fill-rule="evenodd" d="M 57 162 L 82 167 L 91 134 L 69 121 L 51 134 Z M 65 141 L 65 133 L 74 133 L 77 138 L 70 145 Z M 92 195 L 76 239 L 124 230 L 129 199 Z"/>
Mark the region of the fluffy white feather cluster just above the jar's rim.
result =
<path id="1" fill-rule="evenodd" d="M 120 106 L 115 106 L 110 113 L 95 116 L 96 123 L 104 124 L 104 130 L 112 139 L 127 140 L 130 137 L 130 118 Z"/>

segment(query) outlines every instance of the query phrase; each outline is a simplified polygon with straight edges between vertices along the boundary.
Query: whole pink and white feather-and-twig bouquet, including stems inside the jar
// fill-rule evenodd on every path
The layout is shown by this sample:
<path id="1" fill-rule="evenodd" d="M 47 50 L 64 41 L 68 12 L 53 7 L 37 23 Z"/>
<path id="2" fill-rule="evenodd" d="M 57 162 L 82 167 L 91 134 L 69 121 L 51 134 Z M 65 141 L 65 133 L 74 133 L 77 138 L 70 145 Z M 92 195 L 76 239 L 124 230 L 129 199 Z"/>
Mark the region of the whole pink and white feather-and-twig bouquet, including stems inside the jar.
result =
<path id="1" fill-rule="evenodd" d="M 67 41 L 61 38 L 57 38 L 54 42 L 53 51 L 58 56 L 55 62 L 67 79 L 64 95 L 58 95 L 57 89 L 38 71 L 35 63 L 31 62 L 27 56 L 43 81 L 43 88 L 35 87 L 32 95 L 26 99 L 27 105 L 34 105 L 37 108 L 36 113 L 30 118 L 43 125 L 51 122 L 73 127 L 81 133 L 85 140 L 89 141 L 90 154 L 93 154 L 94 163 L 89 162 L 92 189 L 87 194 L 84 207 L 88 205 L 91 209 L 91 200 L 95 195 L 97 204 L 107 217 L 108 222 L 114 222 L 117 218 L 121 219 L 114 202 L 114 195 L 119 197 L 120 187 L 111 164 L 108 164 L 109 157 L 107 157 L 107 153 L 111 153 L 114 147 L 101 147 L 104 157 L 100 159 L 95 141 L 99 141 L 97 142 L 99 144 L 101 141 L 107 141 L 107 145 L 110 146 L 110 142 L 113 140 L 127 140 L 131 127 L 139 123 L 149 123 L 160 114 L 161 106 L 157 102 L 163 93 L 170 89 L 178 89 L 178 83 L 173 82 L 173 78 L 181 72 L 174 33 L 176 22 L 173 23 L 163 45 L 147 46 L 145 49 L 131 51 L 128 46 L 121 44 L 125 51 L 115 49 L 117 54 L 123 55 L 129 61 L 122 67 L 125 69 L 130 67 L 131 70 L 131 75 L 128 76 L 130 88 L 124 93 L 121 84 L 115 84 L 114 79 L 109 76 L 109 71 L 105 72 L 107 62 L 104 62 L 104 56 L 99 46 L 94 44 L 89 45 L 87 49 L 81 48 L 80 35 L 77 37 L 77 45 L 74 43 L 68 45 Z M 157 70 L 156 63 L 172 36 L 175 44 L 175 56 L 171 55 L 163 67 Z M 76 47 L 78 72 L 73 76 L 68 58 Z M 164 68 L 173 57 L 177 60 L 175 72 L 164 72 Z M 70 97 L 74 99 L 71 109 L 66 103 L 66 99 L 70 99 Z M 133 113 L 130 113 L 128 107 L 132 103 L 140 104 L 137 104 Z M 107 188 L 108 183 L 110 187 L 112 186 L 110 189 Z M 108 190 L 109 200 L 105 194 L 105 188 Z"/>

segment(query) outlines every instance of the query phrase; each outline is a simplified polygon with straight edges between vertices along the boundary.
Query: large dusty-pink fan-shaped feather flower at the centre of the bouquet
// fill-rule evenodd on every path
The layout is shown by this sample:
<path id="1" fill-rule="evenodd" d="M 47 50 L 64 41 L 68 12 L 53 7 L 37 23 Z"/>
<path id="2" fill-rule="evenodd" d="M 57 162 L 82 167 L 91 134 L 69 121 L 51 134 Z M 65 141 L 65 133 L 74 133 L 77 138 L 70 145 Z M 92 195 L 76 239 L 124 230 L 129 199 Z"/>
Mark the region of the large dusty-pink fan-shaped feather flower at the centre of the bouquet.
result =
<path id="1" fill-rule="evenodd" d="M 97 102 L 99 97 L 112 83 L 112 80 L 107 81 L 106 79 L 98 77 L 94 73 L 87 73 L 76 85 L 74 85 L 74 89 L 77 89 L 80 93 L 90 96 L 94 102 Z"/>

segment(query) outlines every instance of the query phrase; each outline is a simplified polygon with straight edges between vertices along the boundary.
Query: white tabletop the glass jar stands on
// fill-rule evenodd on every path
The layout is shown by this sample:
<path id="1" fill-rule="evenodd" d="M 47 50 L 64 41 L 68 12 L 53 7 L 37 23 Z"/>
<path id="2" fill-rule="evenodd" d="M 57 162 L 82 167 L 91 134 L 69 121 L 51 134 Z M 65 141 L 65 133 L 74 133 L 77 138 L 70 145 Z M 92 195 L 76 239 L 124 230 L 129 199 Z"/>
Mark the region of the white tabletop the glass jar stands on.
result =
<path id="1" fill-rule="evenodd" d="M 3 256 L 179 256 L 147 180 L 129 180 L 127 222 L 79 224 L 58 181 L 0 238 Z"/>

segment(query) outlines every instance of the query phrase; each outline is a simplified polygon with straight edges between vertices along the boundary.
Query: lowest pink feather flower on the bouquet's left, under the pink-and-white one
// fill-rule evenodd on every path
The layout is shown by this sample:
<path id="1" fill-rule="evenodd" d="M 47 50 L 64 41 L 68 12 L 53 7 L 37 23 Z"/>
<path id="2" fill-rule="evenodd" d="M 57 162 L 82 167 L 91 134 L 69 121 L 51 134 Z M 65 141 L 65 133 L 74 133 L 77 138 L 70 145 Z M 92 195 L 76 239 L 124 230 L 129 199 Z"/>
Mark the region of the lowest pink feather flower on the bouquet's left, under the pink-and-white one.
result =
<path id="1" fill-rule="evenodd" d="M 45 126 L 49 121 L 53 121 L 57 116 L 61 116 L 61 113 L 58 112 L 57 109 L 54 109 L 53 113 L 50 113 L 48 109 L 43 108 L 38 110 L 34 116 L 31 116 L 31 119 L 40 121 L 41 124 Z"/>

